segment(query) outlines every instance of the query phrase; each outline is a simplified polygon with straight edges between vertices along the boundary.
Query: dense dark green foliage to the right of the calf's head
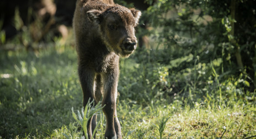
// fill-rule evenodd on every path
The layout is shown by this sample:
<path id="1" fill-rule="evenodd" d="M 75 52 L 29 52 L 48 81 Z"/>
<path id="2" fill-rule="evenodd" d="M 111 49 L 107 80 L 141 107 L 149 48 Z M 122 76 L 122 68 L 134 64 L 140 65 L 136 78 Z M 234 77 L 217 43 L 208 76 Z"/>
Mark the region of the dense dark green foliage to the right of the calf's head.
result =
<path id="1" fill-rule="evenodd" d="M 172 57 L 182 58 L 182 55 L 188 54 L 199 57 L 204 63 L 222 58 L 222 73 L 232 70 L 232 74 L 226 77 L 239 75 L 239 72 L 246 74 L 248 77 L 246 80 L 250 84 L 249 89 L 253 91 L 256 71 L 253 59 L 256 43 L 250 38 L 256 37 L 256 19 L 255 12 L 246 7 L 255 10 L 255 6 L 250 5 L 252 1 L 234 1 L 234 3 L 236 3 L 236 11 L 239 9 L 246 11 L 243 12 L 244 15 L 236 12 L 236 19 L 232 19 L 230 1 L 202 0 L 157 1 L 143 12 L 143 16 L 156 28 L 149 33 L 156 38 L 159 46 L 162 46 L 166 52 L 173 51 L 168 53 L 172 55 L 165 60 L 170 60 Z M 246 18 L 249 17 L 246 14 L 252 15 L 253 21 L 247 23 L 246 20 L 250 19 Z M 233 28 L 232 23 L 234 23 Z M 234 30 L 234 34 L 231 30 Z M 236 40 L 235 44 L 233 40 Z M 243 56 L 242 64 L 245 70 L 242 71 L 237 68 L 238 53 Z"/>

